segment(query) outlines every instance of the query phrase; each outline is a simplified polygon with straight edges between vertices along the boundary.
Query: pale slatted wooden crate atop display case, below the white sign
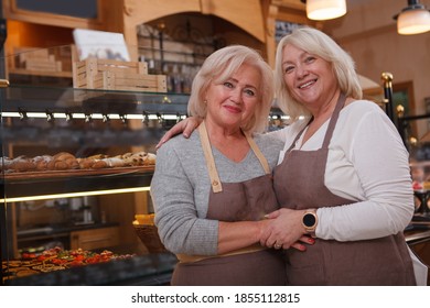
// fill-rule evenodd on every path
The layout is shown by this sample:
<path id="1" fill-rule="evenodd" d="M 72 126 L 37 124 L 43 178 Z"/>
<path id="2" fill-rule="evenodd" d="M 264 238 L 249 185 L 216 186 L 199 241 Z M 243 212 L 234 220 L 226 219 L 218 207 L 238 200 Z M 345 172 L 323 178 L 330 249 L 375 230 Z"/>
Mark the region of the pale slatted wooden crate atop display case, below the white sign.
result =
<path id="1" fill-rule="evenodd" d="M 148 75 L 142 62 L 88 58 L 73 64 L 74 88 L 166 92 L 165 75 Z"/>

